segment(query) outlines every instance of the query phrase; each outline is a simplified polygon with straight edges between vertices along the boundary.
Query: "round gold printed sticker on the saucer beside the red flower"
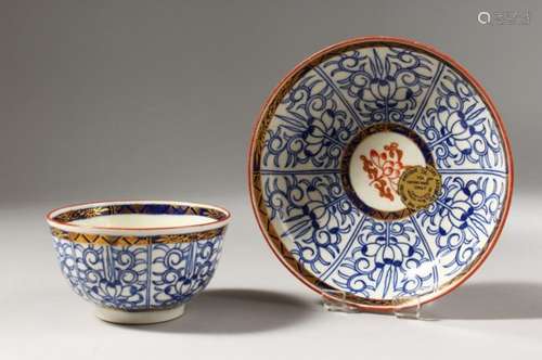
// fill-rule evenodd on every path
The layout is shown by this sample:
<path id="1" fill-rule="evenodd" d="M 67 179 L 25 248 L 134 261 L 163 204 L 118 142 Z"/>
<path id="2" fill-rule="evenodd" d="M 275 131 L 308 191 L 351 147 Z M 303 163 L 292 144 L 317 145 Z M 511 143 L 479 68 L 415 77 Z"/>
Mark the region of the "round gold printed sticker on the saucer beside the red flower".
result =
<path id="1" fill-rule="evenodd" d="M 441 185 L 440 173 L 435 167 L 410 166 L 399 179 L 398 192 L 408 208 L 420 210 L 437 200 Z"/>

